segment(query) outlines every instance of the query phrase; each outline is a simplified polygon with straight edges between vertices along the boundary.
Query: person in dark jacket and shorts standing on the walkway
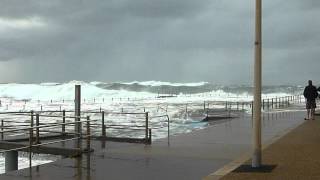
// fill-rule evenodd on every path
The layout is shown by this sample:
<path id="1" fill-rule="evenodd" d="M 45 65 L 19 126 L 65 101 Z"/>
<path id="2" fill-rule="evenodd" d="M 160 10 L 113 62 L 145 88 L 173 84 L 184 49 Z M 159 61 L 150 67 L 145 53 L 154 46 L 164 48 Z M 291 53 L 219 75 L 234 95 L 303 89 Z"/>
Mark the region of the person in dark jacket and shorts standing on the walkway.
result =
<path id="1" fill-rule="evenodd" d="M 316 106 L 316 98 L 318 97 L 317 88 L 312 85 L 312 81 L 308 81 L 308 86 L 304 88 L 303 96 L 306 98 L 306 109 L 307 109 L 307 117 L 304 118 L 305 120 L 309 120 L 311 118 L 314 120 L 314 112 Z"/>

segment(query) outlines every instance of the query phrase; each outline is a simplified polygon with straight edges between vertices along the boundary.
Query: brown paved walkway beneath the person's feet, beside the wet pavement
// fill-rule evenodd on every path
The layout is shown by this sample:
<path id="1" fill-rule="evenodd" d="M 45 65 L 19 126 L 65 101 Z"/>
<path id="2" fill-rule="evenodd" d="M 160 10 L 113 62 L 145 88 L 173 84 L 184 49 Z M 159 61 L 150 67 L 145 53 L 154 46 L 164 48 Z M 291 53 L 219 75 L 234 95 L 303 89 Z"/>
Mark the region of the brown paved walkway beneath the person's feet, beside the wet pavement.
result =
<path id="1" fill-rule="evenodd" d="M 263 167 L 250 168 L 251 160 L 221 179 L 320 179 L 320 116 L 305 121 L 263 150 Z M 217 179 L 212 174 L 207 179 Z"/>

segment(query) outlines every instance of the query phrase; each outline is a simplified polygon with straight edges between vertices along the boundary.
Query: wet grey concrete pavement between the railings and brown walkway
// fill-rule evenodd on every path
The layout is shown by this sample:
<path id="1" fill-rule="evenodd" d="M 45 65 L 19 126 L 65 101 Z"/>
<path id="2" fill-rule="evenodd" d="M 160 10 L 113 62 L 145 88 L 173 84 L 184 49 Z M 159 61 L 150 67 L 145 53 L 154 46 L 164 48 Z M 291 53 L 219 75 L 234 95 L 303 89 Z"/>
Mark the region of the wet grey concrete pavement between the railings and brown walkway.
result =
<path id="1" fill-rule="evenodd" d="M 303 122 L 303 112 L 264 114 L 263 142 Z M 202 179 L 251 149 L 251 116 L 241 116 L 152 145 L 93 141 L 93 153 L 0 176 L 11 179 Z M 103 148 L 105 147 L 105 148 Z"/>

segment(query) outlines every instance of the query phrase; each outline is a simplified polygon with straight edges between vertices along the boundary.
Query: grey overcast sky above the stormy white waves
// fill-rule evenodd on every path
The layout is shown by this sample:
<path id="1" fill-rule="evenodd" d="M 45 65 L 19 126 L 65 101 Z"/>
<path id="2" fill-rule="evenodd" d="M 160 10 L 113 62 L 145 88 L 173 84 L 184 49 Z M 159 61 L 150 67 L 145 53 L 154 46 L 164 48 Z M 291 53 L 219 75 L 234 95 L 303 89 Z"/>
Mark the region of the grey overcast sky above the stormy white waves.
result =
<path id="1" fill-rule="evenodd" d="M 252 84 L 255 0 L 0 0 L 0 82 Z M 320 1 L 263 0 L 263 83 L 320 83 Z"/>

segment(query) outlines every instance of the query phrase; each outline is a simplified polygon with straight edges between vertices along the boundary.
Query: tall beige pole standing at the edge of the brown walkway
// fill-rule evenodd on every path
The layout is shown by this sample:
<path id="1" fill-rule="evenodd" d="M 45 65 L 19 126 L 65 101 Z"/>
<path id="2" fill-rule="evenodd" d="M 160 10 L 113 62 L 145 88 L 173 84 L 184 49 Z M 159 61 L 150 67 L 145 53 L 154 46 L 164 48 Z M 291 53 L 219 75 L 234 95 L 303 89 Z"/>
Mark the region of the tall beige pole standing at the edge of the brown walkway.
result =
<path id="1" fill-rule="evenodd" d="M 261 17 L 262 0 L 256 0 L 254 50 L 254 101 L 253 101 L 253 155 L 252 167 L 261 166 Z"/>

